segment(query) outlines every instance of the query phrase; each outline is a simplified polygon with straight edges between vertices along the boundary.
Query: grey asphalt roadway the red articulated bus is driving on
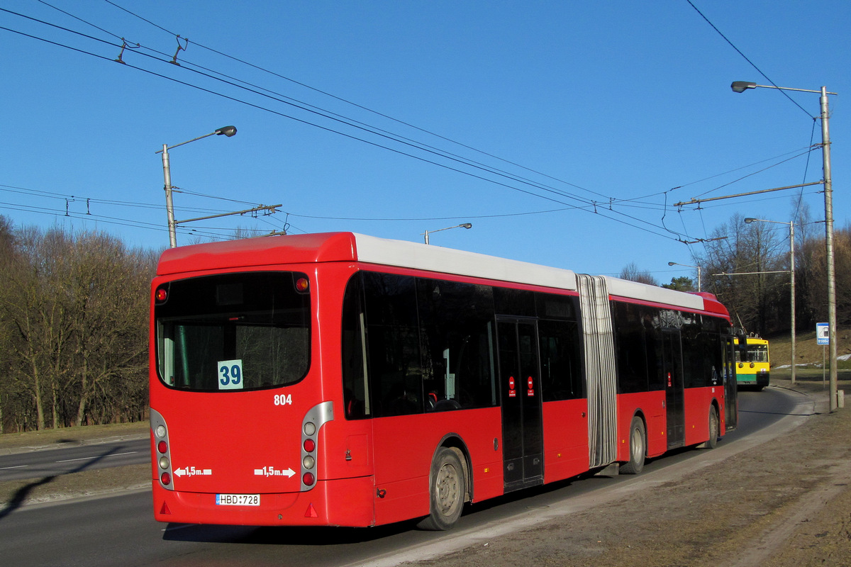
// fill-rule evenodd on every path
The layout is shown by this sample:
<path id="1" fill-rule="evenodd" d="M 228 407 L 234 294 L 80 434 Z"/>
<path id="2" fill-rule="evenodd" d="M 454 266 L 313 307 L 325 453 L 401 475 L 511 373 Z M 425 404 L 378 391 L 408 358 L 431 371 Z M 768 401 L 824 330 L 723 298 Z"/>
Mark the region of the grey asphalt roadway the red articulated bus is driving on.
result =
<path id="1" fill-rule="evenodd" d="M 797 394 L 769 388 L 740 394 L 740 428 L 719 445 L 769 427 L 794 411 Z M 122 445 L 122 444 L 117 444 Z M 127 445 L 126 443 L 124 445 Z M 122 445 L 123 446 L 123 445 Z M 117 447 L 100 446 L 98 463 L 117 458 Z M 112 451 L 115 449 L 115 451 Z M 75 448 L 76 450 L 76 448 Z M 72 450 L 50 451 L 60 455 Z M 110 452 L 112 451 L 112 452 Z M 717 450 L 716 450 L 717 451 Z M 714 451 L 683 450 L 648 461 L 640 478 L 672 465 L 703 459 Z M 108 453 L 108 454 L 107 454 Z M 97 457 L 95 457 L 97 458 Z M 64 460 L 59 459 L 59 460 Z M 586 477 L 558 483 L 468 507 L 452 532 L 414 530 L 414 523 L 371 529 L 250 528 L 194 524 L 159 524 L 152 518 L 150 492 L 35 505 L 0 513 L 0 558 L 9 565 L 343 565 L 395 564 L 411 556 L 397 555 L 448 538 L 476 534 L 517 516 L 544 513 L 594 491 L 614 490 L 636 477 Z M 422 558 L 422 556 L 418 556 Z M 397 559 L 398 558 L 398 559 Z"/>

